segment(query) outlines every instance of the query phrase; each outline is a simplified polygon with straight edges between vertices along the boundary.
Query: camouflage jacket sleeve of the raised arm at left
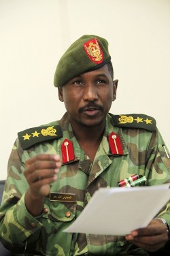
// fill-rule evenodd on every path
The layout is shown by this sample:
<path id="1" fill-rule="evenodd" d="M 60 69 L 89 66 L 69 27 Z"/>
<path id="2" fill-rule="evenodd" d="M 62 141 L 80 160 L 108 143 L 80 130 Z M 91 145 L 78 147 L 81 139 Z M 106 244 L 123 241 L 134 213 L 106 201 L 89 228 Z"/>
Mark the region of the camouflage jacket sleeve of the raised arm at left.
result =
<path id="1" fill-rule="evenodd" d="M 24 195 L 28 183 L 24 178 L 24 162 L 29 158 L 18 140 L 14 143 L 8 161 L 7 180 L 0 208 L 0 238 L 11 251 L 24 253 L 27 246 L 33 246 L 41 229 L 41 217 L 35 218 L 27 211 Z"/>

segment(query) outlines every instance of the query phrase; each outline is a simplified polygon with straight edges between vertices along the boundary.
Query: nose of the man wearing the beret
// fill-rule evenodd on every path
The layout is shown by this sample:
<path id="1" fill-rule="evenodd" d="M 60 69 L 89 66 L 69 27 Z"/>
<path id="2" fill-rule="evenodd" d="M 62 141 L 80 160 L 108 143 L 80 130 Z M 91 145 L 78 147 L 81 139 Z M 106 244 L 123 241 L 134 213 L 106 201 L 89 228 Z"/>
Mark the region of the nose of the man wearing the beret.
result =
<path id="1" fill-rule="evenodd" d="M 84 101 L 96 101 L 98 99 L 97 88 L 94 84 L 86 84 L 83 92 Z"/>

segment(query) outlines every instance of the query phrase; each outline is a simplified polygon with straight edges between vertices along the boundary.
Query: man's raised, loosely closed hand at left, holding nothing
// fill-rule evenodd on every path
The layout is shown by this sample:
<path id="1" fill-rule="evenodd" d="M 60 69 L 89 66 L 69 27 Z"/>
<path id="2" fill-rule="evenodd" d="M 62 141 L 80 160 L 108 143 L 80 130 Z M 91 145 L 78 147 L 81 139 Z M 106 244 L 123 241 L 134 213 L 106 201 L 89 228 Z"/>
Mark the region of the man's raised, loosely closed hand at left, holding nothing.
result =
<path id="1" fill-rule="evenodd" d="M 50 183 L 57 179 L 60 167 L 58 155 L 39 154 L 25 162 L 24 176 L 29 183 L 25 204 L 33 216 L 41 213 L 44 197 L 50 192 Z"/>

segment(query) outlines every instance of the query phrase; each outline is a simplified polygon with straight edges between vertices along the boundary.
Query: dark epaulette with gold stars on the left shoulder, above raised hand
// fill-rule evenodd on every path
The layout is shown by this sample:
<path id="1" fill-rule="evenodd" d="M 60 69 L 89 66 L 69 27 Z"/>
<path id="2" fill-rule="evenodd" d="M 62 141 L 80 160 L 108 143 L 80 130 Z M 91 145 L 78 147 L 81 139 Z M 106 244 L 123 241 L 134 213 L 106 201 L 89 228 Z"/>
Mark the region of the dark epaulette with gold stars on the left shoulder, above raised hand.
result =
<path id="1" fill-rule="evenodd" d="M 18 133 L 23 149 L 27 149 L 39 142 L 55 140 L 61 137 L 63 137 L 63 131 L 59 125 L 33 127 Z"/>

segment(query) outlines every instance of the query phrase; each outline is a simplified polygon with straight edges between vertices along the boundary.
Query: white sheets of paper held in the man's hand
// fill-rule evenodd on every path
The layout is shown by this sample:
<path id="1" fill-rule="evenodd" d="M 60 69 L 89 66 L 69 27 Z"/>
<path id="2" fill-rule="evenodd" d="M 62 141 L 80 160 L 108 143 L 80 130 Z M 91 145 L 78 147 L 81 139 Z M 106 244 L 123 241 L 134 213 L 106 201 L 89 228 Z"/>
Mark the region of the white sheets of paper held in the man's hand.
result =
<path id="1" fill-rule="evenodd" d="M 169 184 L 102 188 L 64 231 L 124 236 L 134 229 L 146 227 L 169 199 Z"/>

